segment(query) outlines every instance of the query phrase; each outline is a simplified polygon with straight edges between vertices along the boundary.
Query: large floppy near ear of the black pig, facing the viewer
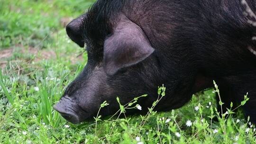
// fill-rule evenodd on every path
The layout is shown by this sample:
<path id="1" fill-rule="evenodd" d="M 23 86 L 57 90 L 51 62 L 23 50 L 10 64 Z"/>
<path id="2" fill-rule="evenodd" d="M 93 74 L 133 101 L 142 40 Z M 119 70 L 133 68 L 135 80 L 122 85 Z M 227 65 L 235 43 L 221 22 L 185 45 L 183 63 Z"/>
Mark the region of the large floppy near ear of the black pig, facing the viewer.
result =
<path id="1" fill-rule="evenodd" d="M 134 65 L 154 52 L 143 30 L 131 21 L 120 23 L 105 40 L 103 66 L 107 74 Z"/>

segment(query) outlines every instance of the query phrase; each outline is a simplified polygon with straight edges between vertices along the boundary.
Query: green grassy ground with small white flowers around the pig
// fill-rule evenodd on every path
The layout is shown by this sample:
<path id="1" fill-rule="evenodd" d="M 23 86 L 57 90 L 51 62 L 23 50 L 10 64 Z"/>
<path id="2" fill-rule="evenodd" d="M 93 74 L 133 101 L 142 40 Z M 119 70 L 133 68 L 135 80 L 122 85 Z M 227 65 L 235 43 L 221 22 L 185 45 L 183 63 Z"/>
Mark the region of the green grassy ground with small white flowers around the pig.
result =
<path id="1" fill-rule="evenodd" d="M 228 118 L 216 112 L 213 90 L 165 113 L 155 113 L 153 105 L 146 116 L 98 117 L 79 125 L 60 117 L 52 106 L 87 61 L 64 26 L 93 1 L 0 0 L 0 144 L 256 143 L 254 126 L 240 110 L 223 114 Z"/>

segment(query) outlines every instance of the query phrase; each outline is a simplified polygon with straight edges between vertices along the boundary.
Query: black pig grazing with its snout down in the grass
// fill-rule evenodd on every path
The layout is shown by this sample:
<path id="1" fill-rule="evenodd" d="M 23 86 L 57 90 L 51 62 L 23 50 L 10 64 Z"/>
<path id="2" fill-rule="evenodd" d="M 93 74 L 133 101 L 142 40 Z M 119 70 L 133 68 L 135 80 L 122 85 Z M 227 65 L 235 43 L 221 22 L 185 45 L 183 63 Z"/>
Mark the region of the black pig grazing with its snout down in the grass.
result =
<path id="1" fill-rule="evenodd" d="M 247 0 L 255 11 L 256 1 Z M 182 107 L 192 94 L 219 84 L 222 101 L 249 92 L 246 116 L 256 123 L 256 56 L 247 47 L 256 29 L 239 0 L 98 0 L 70 22 L 68 36 L 86 44 L 88 63 L 54 108 L 72 123 L 108 116 L 134 97 L 146 113 L 165 84 L 157 111 Z M 225 108 L 224 108 L 225 109 Z"/>

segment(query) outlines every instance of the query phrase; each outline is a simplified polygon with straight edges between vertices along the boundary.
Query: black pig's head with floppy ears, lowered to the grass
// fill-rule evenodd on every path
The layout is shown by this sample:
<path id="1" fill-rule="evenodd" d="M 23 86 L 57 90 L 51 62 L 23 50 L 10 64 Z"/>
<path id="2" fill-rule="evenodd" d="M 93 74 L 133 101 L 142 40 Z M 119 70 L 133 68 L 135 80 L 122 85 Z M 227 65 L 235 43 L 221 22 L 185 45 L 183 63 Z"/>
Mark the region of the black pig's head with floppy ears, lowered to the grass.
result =
<path id="1" fill-rule="evenodd" d="M 114 114 L 119 110 L 117 97 L 122 104 L 127 104 L 135 97 L 148 94 L 138 101 L 141 111 L 127 110 L 127 114 L 145 113 L 157 99 L 157 86 L 174 77 L 163 74 L 165 62 L 160 62 L 161 54 L 141 27 L 123 14 L 106 17 L 95 15 L 95 11 L 88 12 L 66 27 L 68 36 L 76 44 L 81 47 L 86 44 L 88 54 L 87 65 L 54 106 L 72 123 L 95 117 L 105 100 L 110 105 L 101 109 L 100 115 Z M 172 108 L 180 107 L 188 99 L 172 99 L 172 103 L 179 105 Z M 175 102 L 177 100 L 179 102 Z M 158 110 L 169 110 L 167 105 Z"/>

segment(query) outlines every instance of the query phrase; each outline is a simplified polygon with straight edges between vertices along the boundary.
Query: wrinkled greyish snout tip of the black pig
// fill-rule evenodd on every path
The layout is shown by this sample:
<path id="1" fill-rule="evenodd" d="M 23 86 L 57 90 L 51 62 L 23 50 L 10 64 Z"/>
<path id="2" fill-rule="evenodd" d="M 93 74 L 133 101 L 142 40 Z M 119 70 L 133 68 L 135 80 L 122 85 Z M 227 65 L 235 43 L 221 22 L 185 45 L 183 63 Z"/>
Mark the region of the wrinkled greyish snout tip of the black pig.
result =
<path id="1" fill-rule="evenodd" d="M 75 103 L 69 97 L 65 96 L 54 105 L 54 109 L 61 114 L 67 121 L 77 124 L 80 122 L 79 116 L 76 113 Z"/>

